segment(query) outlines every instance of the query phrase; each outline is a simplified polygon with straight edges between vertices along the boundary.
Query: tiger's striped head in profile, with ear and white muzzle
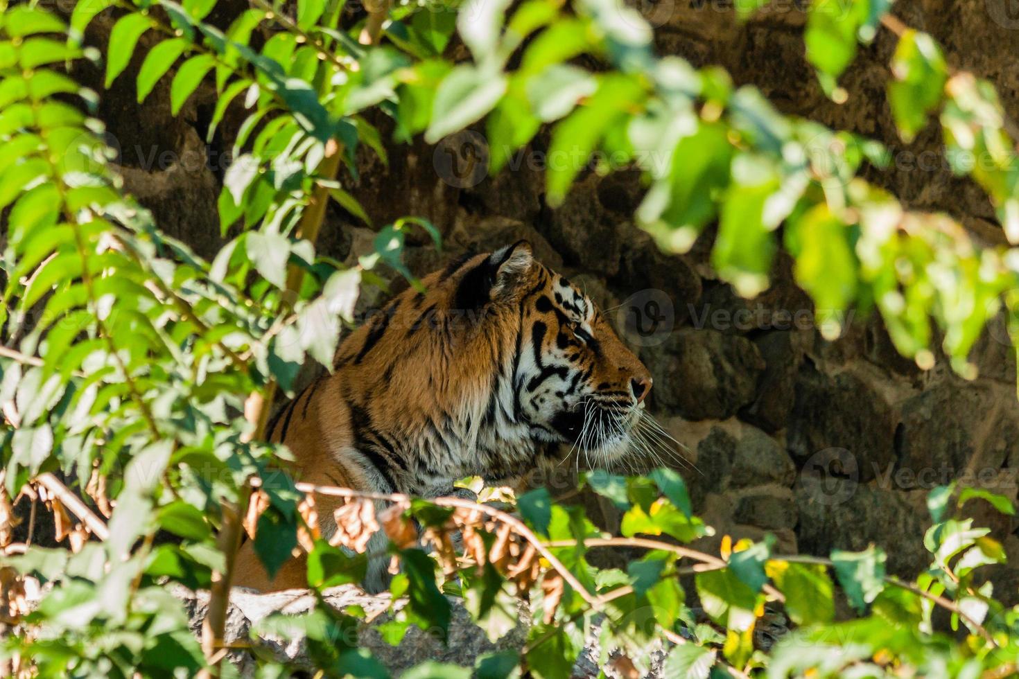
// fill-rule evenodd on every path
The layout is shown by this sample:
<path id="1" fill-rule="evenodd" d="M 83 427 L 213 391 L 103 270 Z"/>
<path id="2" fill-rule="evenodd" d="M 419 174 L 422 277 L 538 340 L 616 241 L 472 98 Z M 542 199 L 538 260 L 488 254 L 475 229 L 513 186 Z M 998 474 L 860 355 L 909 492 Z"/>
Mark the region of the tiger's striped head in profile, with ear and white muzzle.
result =
<path id="1" fill-rule="evenodd" d="M 468 262 L 453 303 L 487 312 L 478 317 L 481 335 L 506 328 L 499 337 L 513 338 L 489 410 L 504 410 L 507 423 L 535 441 L 566 444 L 588 464 L 631 450 L 650 373 L 583 291 L 534 260 L 527 241 Z"/>

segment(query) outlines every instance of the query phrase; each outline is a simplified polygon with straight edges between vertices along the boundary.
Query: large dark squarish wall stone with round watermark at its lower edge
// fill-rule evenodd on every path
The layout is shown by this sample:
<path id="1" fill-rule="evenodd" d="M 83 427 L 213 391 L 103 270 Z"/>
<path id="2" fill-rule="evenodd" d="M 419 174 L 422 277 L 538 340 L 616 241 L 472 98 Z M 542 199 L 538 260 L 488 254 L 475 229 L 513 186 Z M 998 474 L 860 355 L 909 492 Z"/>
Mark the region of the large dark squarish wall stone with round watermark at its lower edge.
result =
<path id="1" fill-rule="evenodd" d="M 862 378 L 849 371 L 827 375 L 806 361 L 797 376 L 788 448 L 800 460 L 846 450 L 866 482 L 895 460 L 897 423 L 884 395 Z"/>

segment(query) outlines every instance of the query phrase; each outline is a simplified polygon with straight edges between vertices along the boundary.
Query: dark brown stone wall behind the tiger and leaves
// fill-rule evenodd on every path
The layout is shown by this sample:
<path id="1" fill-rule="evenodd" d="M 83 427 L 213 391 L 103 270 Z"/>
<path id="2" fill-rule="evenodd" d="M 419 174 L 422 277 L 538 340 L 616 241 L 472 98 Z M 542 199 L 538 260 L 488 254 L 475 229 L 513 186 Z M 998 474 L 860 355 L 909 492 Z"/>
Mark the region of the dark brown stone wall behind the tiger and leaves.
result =
<path id="1" fill-rule="evenodd" d="M 804 15 L 796 3 L 775 0 L 744 24 L 729 5 L 660 0 L 639 8 L 658 26 L 660 52 L 697 66 L 719 64 L 785 113 L 880 139 L 895 152 L 895 163 L 884 172 L 868 171 L 869 179 L 911 208 L 948 211 L 983 241 L 1002 242 L 986 197 L 952 177 L 937 155 L 935 124 L 910 145 L 898 139 L 883 95 L 891 36 L 881 33 L 861 49 L 844 77 L 849 100 L 837 105 L 824 98 L 803 58 Z M 1010 18 L 1008 6 L 1008 0 L 904 0 L 896 12 L 945 45 L 950 63 L 993 79 L 1006 108 L 1019 112 L 1019 62 L 1012 56 L 1019 51 L 1019 18 Z M 221 18 L 231 11 L 217 9 Z M 104 15 L 89 32 L 104 52 L 111 24 Z M 131 69 L 143 56 L 136 54 Z M 83 68 L 79 75 L 101 90 L 98 71 Z M 120 150 L 126 187 L 165 230 L 211 256 L 220 243 L 216 194 L 239 112 L 205 145 L 215 105 L 210 87 L 171 117 L 166 80 L 141 109 L 132 82 L 129 69 L 103 94 L 100 111 Z M 387 138 L 391 126 L 381 117 L 375 122 Z M 770 531 L 782 550 L 818 554 L 876 543 L 889 552 L 891 570 L 908 575 L 927 564 L 926 490 L 960 478 L 1015 498 L 1019 403 L 1001 324 L 974 349 L 980 373 L 970 382 L 941 357 L 922 372 L 899 356 L 874 317 L 857 315 L 842 337 L 825 341 L 808 298 L 792 282 L 788 258 L 775 263 L 770 289 L 741 299 L 707 265 L 710 232 L 690 253 L 671 257 L 634 226 L 644 190 L 635 174 L 582 174 L 566 205 L 552 210 L 541 171 L 547 138 L 539 135 L 495 178 L 467 164 L 481 144 L 473 132 L 437 148 L 389 144 L 388 167 L 362 153 L 360 179 L 343 181 L 375 224 L 421 215 L 442 231 L 442 254 L 425 238 L 412 239 L 408 258 L 419 274 L 465 250 L 526 237 L 602 308 L 619 307 L 612 316 L 622 325 L 629 321 L 629 338 L 654 375 L 651 409 L 685 445 L 680 468 L 697 511 L 718 535 Z M 369 229 L 336 206 L 330 210 L 321 249 L 353 258 L 369 247 Z M 654 322 L 653 332 L 639 332 Z M 1019 563 L 1017 522 L 982 502 L 972 509 Z M 1019 578 L 1007 568 L 999 575 L 1011 584 L 998 593 L 1014 602 Z"/>

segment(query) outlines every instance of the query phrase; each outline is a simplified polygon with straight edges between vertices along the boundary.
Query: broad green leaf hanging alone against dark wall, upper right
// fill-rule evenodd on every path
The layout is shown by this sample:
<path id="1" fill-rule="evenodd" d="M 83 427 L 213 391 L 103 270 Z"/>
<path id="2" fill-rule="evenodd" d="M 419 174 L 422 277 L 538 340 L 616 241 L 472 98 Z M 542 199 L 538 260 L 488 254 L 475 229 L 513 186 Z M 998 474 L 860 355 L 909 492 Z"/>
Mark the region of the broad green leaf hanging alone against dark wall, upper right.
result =
<path id="1" fill-rule="evenodd" d="M 933 39 L 909 30 L 892 57 L 889 106 L 899 134 L 909 143 L 927 124 L 927 116 L 945 96 L 948 67 Z"/>

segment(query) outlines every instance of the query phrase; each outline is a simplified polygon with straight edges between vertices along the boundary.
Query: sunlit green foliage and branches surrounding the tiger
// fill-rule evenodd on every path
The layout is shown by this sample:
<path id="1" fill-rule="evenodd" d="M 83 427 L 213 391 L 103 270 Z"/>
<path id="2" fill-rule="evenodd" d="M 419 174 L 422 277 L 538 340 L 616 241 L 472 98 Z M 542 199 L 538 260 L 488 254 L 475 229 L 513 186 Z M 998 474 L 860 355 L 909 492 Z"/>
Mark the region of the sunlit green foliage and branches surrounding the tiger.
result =
<path id="1" fill-rule="evenodd" d="M 761 4 L 737 8 L 745 16 Z M 825 334 L 838 332 L 845 308 L 873 306 L 897 347 L 921 366 L 933 362 L 931 321 L 966 376 L 974 371 L 966 356 L 989 317 L 1004 305 L 1010 327 L 1019 327 L 1019 297 L 1010 294 L 1015 252 L 981 248 L 950 218 L 910 213 L 855 176 L 887 161 L 880 145 L 783 116 L 717 69 L 656 57 L 646 22 L 613 0 L 570 7 L 526 0 L 508 16 L 504 0 L 479 0 L 459 15 L 443 4 L 400 5 L 378 45 L 359 41 L 364 21 L 344 22 L 342 5 L 324 0 L 299 0 L 292 17 L 253 0 L 225 30 L 207 20 L 212 0 L 79 0 L 66 21 L 35 4 L 0 6 L 7 224 L 0 404 L 9 423 L 0 439 L 0 621 L 17 629 L 0 645 L 8 667 L 31 664 L 41 675 L 228 673 L 229 666 L 217 669 L 218 648 L 200 646 L 167 583 L 212 585 L 215 597 L 230 551 L 217 535 L 236 527 L 255 485 L 256 549 L 267 565 L 278 566 L 300 544 L 318 591 L 363 570 L 359 557 L 315 540 L 308 489 L 270 471 L 286 451 L 260 441 L 261 415 L 240 413 L 267 412 L 276 388 L 290 393 L 306 358 L 328 366 L 360 285 L 380 283 L 375 270 L 383 264 L 409 275 L 400 259 L 408 228 L 435 235 L 420 219 L 385 226 L 376 252 L 352 269 L 316 253 L 324 200 L 368 221 L 336 163 L 356 174 L 361 147 L 385 161 L 380 133 L 363 115 L 369 109 L 391 116 L 401 140 L 424 133 L 437 142 L 484 120 L 492 172 L 545 126 L 552 204 L 589 165 L 640 168 L 649 190 L 636 217 L 663 249 L 689 248 L 716 222 L 712 263 L 753 295 L 767 286 L 781 236 Z M 844 99 L 838 78 L 858 42 L 891 26 L 900 40 L 889 101 L 903 136 L 938 115 L 953 169 L 986 190 L 1010 241 L 1019 240 L 1015 139 L 993 88 L 952 72 L 929 36 L 902 29 L 888 9 L 881 0 L 810 6 L 806 53 L 822 87 Z M 97 95 L 67 67 L 102 61 L 83 46 L 100 12 L 115 17 L 107 84 L 123 77 L 144 44 L 140 101 L 168 78 L 176 112 L 212 82 L 220 95 L 210 135 L 228 107 L 247 112 L 219 197 L 222 232 L 231 239 L 211 263 L 162 233 L 109 166 L 102 125 L 92 117 Z M 470 60 L 448 57 L 458 40 Z M 584 55 L 599 67 L 579 65 L 590 63 L 578 59 Z M 34 485 L 55 471 L 77 479 L 109 519 L 105 540 L 87 540 L 105 529 L 64 520 L 70 500 Z M 1015 669 L 1019 612 L 976 577 L 1004 559 L 1002 547 L 955 511 L 974 499 L 1013 511 L 1003 498 L 969 490 L 956 497 L 951 488 L 931 494 L 925 546 L 932 562 L 915 582 L 902 582 L 886 574 L 876 548 L 830 559 L 772 554 L 767 540 L 722 540 L 720 556 L 689 549 L 710 529 L 691 515 L 683 480 L 668 470 L 629 478 L 598 472 L 587 483 L 625 511 L 622 537 L 601 535 L 581 509 L 543 492 L 520 499 L 527 526 L 488 505 L 393 498 L 395 510 L 382 523 L 403 565 L 393 593 L 409 605 L 387 637 L 398 640 L 411 624 L 444 634 L 445 590 L 463 598 L 493 637 L 513 622 L 515 598 L 535 603 L 524 652 L 478 659 L 477 674 L 486 677 L 525 668 L 537 677 L 569 676 L 592 629 L 602 664 L 618 649 L 612 662 L 623 658 L 638 672 L 651 663 L 652 642 L 667 639 L 668 676 Z M 22 490 L 49 503 L 73 549 L 15 554 L 8 508 Z M 428 527 L 434 556 L 404 544 L 412 516 Z M 448 542 L 454 529 L 465 537 L 459 556 Z M 157 541 L 160 531 L 179 540 Z M 598 544 L 648 551 L 626 571 L 598 569 L 587 559 Z M 680 583 L 694 573 L 705 619 L 696 618 Z M 24 604 L 25 575 L 57 585 L 37 608 Z M 834 621 L 840 596 L 857 617 Z M 780 605 L 796 628 L 765 654 L 754 631 Z M 265 624 L 307 634 L 327 674 L 378 676 L 378 664 L 343 633 L 355 613 L 322 605 Z M 266 673 L 283 670 L 260 662 Z M 464 674 L 437 665 L 418 673 Z"/>

